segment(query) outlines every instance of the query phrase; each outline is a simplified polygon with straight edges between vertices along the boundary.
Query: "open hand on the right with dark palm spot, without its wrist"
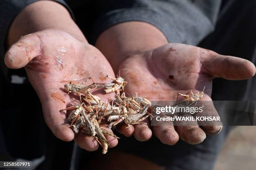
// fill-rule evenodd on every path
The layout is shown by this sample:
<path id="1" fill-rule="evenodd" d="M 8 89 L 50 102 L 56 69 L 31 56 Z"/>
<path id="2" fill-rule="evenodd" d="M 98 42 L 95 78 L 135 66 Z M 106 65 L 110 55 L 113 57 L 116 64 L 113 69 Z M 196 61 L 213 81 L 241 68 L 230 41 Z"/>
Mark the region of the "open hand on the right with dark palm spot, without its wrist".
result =
<path id="1" fill-rule="evenodd" d="M 120 76 L 128 81 L 126 94 L 146 96 L 149 100 L 176 100 L 177 94 L 188 94 L 192 89 L 197 93 L 209 90 L 204 95 L 211 101 L 212 79 L 222 77 L 229 80 L 249 79 L 255 74 L 250 61 L 233 56 L 222 56 L 210 50 L 185 44 L 169 43 L 159 48 L 130 54 L 120 63 Z M 218 116 L 215 108 L 208 114 Z M 222 126 L 154 126 L 154 134 L 161 142 L 174 145 L 179 137 L 190 143 L 202 142 L 207 134 L 217 134 Z M 202 128 L 202 129 L 201 129 Z M 150 122 L 130 127 L 126 136 L 133 134 L 137 140 L 148 140 L 151 135 Z"/>

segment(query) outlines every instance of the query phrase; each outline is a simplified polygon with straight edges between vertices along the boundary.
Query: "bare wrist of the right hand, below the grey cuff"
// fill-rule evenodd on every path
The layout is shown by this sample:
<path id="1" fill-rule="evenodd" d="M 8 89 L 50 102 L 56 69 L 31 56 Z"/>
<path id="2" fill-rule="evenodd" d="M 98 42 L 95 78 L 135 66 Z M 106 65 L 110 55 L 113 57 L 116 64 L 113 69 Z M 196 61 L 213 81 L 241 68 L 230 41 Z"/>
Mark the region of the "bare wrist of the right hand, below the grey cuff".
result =
<path id="1" fill-rule="evenodd" d="M 105 55 L 114 71 L 126 58 L 168 43 L 164 34 L 145 22 L 125 22 L 100 34 L 96 47 Z"/>

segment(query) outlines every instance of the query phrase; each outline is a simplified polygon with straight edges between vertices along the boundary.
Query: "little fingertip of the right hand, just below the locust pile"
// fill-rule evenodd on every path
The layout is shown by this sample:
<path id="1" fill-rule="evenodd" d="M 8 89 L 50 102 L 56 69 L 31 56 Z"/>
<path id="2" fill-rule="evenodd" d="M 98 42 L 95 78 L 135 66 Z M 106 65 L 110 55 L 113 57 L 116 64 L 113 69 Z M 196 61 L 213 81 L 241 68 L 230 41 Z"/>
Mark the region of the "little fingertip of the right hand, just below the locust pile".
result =
<path id="1" fill-rule="evenodd" d="M 134 132 L 133 136 L 139 140 L 139 141 L 146 141 L 149 140 L 152 136 L 152 131 L 149 128 L 150 127 L 150 122 L 148 119 L 145 119 L 143 122 L 140 124 L 134 124 Z"/>

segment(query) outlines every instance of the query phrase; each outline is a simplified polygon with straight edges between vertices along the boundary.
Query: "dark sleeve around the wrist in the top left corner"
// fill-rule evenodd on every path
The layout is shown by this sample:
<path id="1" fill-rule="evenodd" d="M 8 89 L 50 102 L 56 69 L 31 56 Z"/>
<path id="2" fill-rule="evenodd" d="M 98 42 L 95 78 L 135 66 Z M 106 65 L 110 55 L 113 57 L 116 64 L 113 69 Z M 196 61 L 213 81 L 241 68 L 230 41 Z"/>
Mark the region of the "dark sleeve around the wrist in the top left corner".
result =
<path id="1" fill-rule="evenodd" d="M 38 0 L 1 0 L 0 3 L 0 67 L 3 71 L 3 74 L 7 75 L 7 68 L 4 65 L 4 55 L 6 52 L 5 49 L 5 39 L 8 33 L 8 29 L 13 22 L 14 18 L 20 13 L 20 11 L 25 8 L 27 5 L 34 3 Z M 65 3 L 64 0 L 54 0 L 62 5 L 64 5 L 69 13 L 74 18 L 72 11 Z"/>

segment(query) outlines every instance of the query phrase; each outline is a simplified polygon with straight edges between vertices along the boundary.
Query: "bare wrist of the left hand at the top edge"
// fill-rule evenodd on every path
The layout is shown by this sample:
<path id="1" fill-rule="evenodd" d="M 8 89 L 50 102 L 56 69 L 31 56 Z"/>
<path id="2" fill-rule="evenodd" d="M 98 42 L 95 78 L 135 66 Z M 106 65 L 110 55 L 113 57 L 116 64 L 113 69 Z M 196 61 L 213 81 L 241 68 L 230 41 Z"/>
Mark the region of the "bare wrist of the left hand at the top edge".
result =
<path id="1" fill-rule="evenodd" d="M 80 41 L 86 41 L 63 5 L 41 0 L 26 6 L 16 16 L 8 31 L 7 45 L 15 43 L 21 36 L 45 29 L 63 30 Z"/>

